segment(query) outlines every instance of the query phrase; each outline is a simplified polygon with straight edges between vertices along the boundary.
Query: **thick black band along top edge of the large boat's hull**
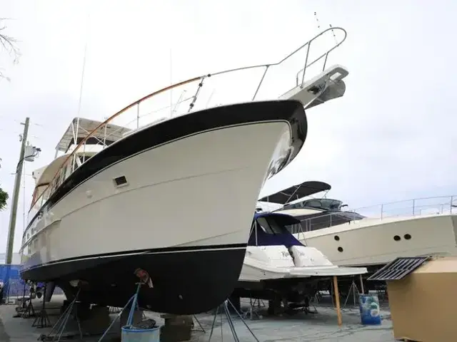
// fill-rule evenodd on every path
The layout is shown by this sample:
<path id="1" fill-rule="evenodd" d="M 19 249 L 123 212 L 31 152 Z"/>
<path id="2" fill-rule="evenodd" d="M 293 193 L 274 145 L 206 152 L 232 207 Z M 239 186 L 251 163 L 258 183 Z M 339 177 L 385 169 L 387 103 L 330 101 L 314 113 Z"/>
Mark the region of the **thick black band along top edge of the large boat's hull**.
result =
<path id="1" fill-rule="evenodd" d="M 76 187 L 94 177 L 106 167 L 115 165 L 146 150 L 205 131 L 234 125 L 274 121 L 286 121 L 289 123 L 292 141 L 291 155 L 281 167 L 278 167 L 277 173 L 296 157 L 305 142 L 308 125 L 303 105 L 296 100 L 273 100 L 225 105 L 181 115 L 141 129 L 131 135 L 127 135 L 126 138 L 114 142 L 89 158 L 66 178 L 39 212 L 50 210 Z M 38 217 L 39 212 L 31 219 L 27 228 Z"/>

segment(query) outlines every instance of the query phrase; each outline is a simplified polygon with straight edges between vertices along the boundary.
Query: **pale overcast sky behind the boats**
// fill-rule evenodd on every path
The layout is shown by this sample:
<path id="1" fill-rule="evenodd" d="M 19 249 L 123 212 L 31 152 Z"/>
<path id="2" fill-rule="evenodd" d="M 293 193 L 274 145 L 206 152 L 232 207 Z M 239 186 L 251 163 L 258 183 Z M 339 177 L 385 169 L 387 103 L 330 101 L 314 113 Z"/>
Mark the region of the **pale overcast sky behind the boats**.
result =
<path id="1" fill-rule="evenodd" d="M 318 33 L 315 11 L 321 29 L 348 31 L 329 57 L 329 64 L 348 68 L 346 94 L 308 110 L 305 147 L 263 194 L 322 180 L 332 185 L 331 197 L 350 207 L 457 195 L 455 1 L 0 0 L 0 9 L 10 19 L 4 33 L 21 50 L 16 65 L 0 53 L 11 78 L 0 81 L 1 187 L 11 195 L 26 116 L 29 141 L 43 150 L 26 163 L 16 250 L 31 171 L 51 161 L 78 114 L 86 41 L 80 115 L 101 120 L 166 86 L 170 51 L 174 82 L 275 62 Z M 0 212 L 0 252 L 8 222 L 7 209 Z"/>

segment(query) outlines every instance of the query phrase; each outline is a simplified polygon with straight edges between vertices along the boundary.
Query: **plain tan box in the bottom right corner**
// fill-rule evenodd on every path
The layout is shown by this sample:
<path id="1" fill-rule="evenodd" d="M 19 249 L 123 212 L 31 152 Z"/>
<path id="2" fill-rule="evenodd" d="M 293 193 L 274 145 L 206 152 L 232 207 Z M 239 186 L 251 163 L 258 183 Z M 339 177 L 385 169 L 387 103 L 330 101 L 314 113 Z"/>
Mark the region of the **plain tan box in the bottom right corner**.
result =
<path id="1" fill-rule="evenodd" d="M 457 257 L 426 261 L 403 279 L 387 281 L 395 338 L 457 341 Z"/>

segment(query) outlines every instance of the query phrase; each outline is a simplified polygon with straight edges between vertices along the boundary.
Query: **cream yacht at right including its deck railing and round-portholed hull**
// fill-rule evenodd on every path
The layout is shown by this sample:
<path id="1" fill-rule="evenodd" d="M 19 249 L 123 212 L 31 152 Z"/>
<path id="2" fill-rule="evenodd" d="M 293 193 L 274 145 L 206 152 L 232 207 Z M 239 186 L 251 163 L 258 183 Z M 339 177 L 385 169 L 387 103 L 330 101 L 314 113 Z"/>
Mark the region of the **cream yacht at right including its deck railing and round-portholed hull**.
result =
<path id="1" fill-rule="evenodd" d="M 316 200 L 314 200 L 316 201 Z M 328 201 L 328 199 L 327 199 Z M 334 200 L 333 204 L 340 201 Z M 341 266 L 383 266 L 396 257 L 457 255 L 457 196 L 381 204 L 378 215 L 339 212 L 301 222 L 296 237 Z M 389 207 L 398 209 L 389 210 Z M 454 209 L 455 210 L 455 209 Z M 376 215 L 376 216 L 375 216 Z"/>

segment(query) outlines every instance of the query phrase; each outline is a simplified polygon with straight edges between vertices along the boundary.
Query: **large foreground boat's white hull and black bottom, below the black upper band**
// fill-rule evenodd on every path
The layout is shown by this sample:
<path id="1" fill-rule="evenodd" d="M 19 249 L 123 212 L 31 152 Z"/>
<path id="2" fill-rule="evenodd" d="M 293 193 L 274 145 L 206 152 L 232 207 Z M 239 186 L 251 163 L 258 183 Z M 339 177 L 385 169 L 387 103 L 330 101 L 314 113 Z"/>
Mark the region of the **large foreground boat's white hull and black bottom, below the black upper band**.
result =
<path id="1" fill-rule="evenodd" d="M 294 108 L 303 115 L 296 123 L 306 125 L 303 108 Z M 27 232 L 35 234 L 24 234 L 21 276 L 56 281 L 66 293 L 69 281 L 83 279 L 85 301 L 123 306 L 139 267 L 154 284 L 141 290 L 140 305 L 176 314 L 212 309 L 236 284 L 258 193 L 290 161 L 293 141 L 303 138 L 296 129 L 287 120 L 231 125 L 105 167 L 41 215 L 31 212 Z M 126 184 L 116 187 L 122 176 Z"/>

